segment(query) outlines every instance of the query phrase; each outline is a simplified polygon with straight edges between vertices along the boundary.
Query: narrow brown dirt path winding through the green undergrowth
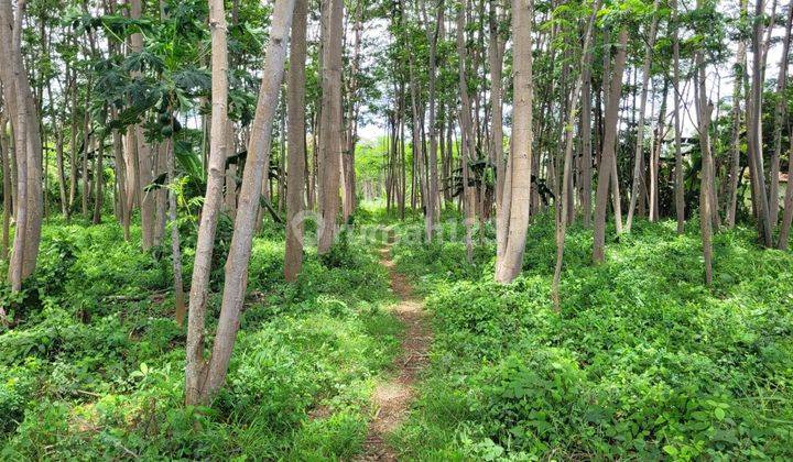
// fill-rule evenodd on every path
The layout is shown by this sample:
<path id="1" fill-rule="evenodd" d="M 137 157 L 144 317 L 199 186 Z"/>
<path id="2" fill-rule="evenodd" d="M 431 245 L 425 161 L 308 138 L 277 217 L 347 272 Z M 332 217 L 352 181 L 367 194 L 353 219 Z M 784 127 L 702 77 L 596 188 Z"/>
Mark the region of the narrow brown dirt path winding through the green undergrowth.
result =
<path id="1" fill-rule="evenodd" d="M 402 352 L 394 361 L 397 375 L 379 384 L 372 394 L 374 417 L 369 424 L 363 454 L 357 459 L 359 461 L 397 460 L 394 450 L 385 439 L 408 416 L 410 405 L 415 397 L 413 385 L 427 363 L 427 351 L 432 341 L 423 301 L 413 297 L 413 290 L 406 278 L 394 270 L 390 245 L 381 250 L 381 263 L 389 271 L 391 288 L 400 298 L 392 311 L 404 323 L 405 331 L 401 344 Z"/>

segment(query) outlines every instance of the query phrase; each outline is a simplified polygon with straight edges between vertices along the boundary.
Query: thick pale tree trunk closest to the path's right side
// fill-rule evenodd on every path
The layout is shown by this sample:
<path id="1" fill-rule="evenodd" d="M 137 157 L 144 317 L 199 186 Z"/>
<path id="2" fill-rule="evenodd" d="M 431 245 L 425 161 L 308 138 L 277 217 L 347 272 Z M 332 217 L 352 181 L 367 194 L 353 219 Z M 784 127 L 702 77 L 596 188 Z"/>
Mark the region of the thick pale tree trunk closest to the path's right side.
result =
<path id="1" fill-rule="evenodd" d="M 512 136 L 510 157 L 504 173 L 503 207 L 509 219 L 501 232 L 506 243 L 496 258 L 496 280 L 512 282 L 523 266 L 529 229 L 533 142 L 532 22 L 533 0 L 512 0 L 513 88 Z"/>

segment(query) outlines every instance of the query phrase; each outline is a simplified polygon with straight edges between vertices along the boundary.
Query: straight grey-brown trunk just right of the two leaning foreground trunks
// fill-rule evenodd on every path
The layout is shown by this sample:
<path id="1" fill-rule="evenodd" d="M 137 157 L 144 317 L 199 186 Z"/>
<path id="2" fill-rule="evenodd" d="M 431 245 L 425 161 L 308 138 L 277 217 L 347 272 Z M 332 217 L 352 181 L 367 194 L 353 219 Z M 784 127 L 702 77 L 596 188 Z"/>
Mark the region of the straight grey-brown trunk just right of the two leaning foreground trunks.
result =
<path id="1" fill-rule="evenodd" d="M 284 278 L 295 280 L 303 265 L 303 173 L 305 151 L 305 63 L 307 0 L 295 0 L 287 84 L 286 253 Z"/>

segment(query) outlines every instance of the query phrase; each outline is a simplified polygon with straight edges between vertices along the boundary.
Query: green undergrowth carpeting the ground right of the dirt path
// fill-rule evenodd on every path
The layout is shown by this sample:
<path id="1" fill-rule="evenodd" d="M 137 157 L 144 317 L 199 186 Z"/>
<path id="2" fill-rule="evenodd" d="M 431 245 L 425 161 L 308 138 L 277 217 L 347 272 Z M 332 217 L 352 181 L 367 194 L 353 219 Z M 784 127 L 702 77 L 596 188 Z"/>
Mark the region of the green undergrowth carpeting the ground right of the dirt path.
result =
<path id="1" fill-rule="evenodd" d="M 674 227 L 610 230 L 595 267 L 591 232 L 574 226 L 558 314 L 552 218 L 531 224 L 523 273 L 508 286 L 492 282 L 491 241 L 474 265 L 461 235 L 400 241 L 398 270 L 430 294 L 435 336 L 397 437 L 402 455 L 793 458 L 793 254 L 759 249 L 750 230 L 721 231 L 707 288 L 697 224 Z"/>

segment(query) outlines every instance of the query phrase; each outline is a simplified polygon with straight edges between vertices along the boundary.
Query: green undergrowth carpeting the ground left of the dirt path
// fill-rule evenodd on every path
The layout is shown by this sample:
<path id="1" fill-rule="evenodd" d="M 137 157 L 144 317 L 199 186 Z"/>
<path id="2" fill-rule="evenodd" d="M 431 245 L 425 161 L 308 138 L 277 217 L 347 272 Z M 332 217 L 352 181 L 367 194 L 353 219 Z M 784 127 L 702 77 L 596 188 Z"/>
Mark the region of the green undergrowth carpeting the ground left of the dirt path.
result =
<path id="1" fill-rule="evenodd" d="M 276 229 L 254 240 L 227 386 L 210 407 L 191 408 L 167 245 L 144 253 L 116 224 L 47 223 L 23 296 L 0 294 L 17 322 L 0 331 L 0 459 L 355 454 L 368 395 L 399 349 L 388 276 L 355 233 L 333 258 L 308 250 L 296 284 L 283 280 L 283 251 Z M 185 249 L 185 274 L 193 254 Z M 210 299 L 208 332 L 219 301 Z"/>

